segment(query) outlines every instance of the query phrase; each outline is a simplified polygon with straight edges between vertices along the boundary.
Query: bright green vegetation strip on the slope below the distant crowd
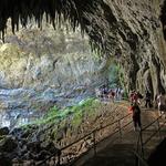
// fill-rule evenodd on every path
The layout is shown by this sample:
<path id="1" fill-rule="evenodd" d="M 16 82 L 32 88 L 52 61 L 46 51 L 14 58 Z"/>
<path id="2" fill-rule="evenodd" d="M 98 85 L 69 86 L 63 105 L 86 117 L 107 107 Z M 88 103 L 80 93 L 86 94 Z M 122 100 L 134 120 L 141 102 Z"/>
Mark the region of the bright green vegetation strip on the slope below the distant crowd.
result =
<path id="1" fill-rule="evenodd" d="M 42 125 L 42 124 L 58 124 L 62 122 L 63 120 L 66 120 L 68 116 L 71 116 L 71 124 L 73 126 L 79 126 L 84 116 L 94 116 L 95 108 L 100 105 L 100 101 L 96 98 L 86 98 L 84 101 L 81 101 L 77 105 L 65 107 L 63 110 L 58 108 L 56 106 L 53 106 L 50 108 L 50 111 L 46 113 L 46 115 L 33 122 L 32 124 L 35 125 Z"/>

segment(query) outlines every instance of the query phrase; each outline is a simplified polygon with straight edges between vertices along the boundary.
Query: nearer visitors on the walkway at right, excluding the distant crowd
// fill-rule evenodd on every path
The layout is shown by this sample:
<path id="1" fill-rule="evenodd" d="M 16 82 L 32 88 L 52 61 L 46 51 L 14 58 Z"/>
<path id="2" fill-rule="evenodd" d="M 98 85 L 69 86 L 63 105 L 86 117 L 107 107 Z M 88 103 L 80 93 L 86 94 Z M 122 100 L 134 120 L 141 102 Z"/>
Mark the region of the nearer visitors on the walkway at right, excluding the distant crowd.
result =
<path id="1" fill-rule="evenodd" d="M 133 114 L 133 123 L 135 131 L 137 128 L 141 129 L 142 127 L 141 104 L 143 98 L 145 100 L 145 107 L 149 108 L 153 107 L 153 97 L 149 91 L 146 91 L 145 97 L 139 92 L 136 91 L 132 91 L 132 93 L 129 94 L 131 106 L 128 110 Z M 166 96 L 164 94 L 160 93 L 155 96 L 155 107 L 158 108 L 159 114 L 166 111 Z"/>

